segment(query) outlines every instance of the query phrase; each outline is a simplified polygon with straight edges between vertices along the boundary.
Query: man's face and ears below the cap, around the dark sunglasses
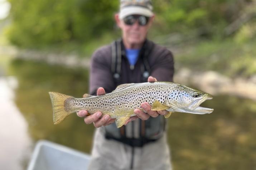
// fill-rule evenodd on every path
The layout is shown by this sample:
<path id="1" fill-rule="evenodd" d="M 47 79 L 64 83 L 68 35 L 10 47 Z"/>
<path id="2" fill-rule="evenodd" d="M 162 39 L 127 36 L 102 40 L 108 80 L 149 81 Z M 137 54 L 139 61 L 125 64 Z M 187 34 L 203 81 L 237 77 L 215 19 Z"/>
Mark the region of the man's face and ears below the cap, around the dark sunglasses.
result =
<path id="1" fill-rule="evenodd" d="M 134 24 L 128 25 L 125 23 L 124 19 L 120 20 L 118 14 L 116 14 L 115 19 L 117 25 L 122 30 L 122 38 L 126 43 L 129 44 L 141 44 L 145 41 L 148 29 L 150 28 L 154 16 L 149 18 L 148 23 L 146 25 L 139 24 L 139 16 L 135 15 L 136 21 Z"/>

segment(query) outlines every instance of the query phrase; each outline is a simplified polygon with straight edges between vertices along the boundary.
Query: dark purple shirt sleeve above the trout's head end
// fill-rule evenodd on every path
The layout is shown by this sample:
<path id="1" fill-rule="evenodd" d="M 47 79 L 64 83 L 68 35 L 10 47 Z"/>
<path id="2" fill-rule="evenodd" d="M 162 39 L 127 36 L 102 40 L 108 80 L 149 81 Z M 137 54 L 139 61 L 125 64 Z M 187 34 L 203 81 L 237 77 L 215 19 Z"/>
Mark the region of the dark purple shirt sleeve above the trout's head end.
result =
<path id="1" fill-rule="evenodd" d="M 158 81 L 173 81 L 174 60 L 173 54 L 169 50 L 165 50 L 162 55 L 159 55 L 153 67 L 151 68 L 151 76 Z"/>

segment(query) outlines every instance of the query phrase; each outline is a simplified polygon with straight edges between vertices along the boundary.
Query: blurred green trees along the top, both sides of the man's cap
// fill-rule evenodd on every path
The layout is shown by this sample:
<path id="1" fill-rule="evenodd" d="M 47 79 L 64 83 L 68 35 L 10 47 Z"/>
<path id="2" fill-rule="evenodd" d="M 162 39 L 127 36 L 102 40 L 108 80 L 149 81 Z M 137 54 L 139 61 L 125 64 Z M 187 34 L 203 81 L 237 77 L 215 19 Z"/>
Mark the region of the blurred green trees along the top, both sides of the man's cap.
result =
<path id="1" fill-rule="evenodd" d="M 113 33 L 119 0 L 9 0 L 12 24 L 8 36 L 20 47 L 88 43 Z M 209 36 L 237 18 L 245 0 L 153 0 L 155 32 L 198 29 Z"/>

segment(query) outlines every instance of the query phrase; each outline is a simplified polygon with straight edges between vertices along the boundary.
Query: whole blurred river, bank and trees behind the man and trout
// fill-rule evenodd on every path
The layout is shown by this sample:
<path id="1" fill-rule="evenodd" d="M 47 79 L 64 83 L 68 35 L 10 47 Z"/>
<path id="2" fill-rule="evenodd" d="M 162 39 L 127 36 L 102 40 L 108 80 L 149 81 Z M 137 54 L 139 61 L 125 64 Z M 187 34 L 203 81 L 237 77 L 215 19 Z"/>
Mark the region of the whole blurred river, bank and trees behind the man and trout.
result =
<path id="1" fill-rule="evenodd" d="M 213 94 L 209 115 L 174 113 L 174 170 L 256 170 L 256 0 L 153 0 L 149 39 L 174 54 L 174 82 Z M 0 0 L 0 169 L 23 170 L 46 139 L 90 153 L 94 127 L 53 125 L 49 91 L 88 92 L 90 57 L 120 37 L 119 0 Z"/>

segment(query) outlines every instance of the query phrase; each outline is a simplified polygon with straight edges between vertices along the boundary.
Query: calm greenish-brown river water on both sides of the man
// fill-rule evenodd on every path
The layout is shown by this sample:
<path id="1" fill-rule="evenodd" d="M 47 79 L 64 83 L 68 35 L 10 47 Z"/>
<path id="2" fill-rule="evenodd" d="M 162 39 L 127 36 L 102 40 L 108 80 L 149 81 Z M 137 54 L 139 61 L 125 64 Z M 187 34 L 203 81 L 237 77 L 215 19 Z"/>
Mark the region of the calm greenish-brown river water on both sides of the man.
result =
<path id="1" fill-rule="evenodd" d="M 49 91 L 81 97 L 88 70 L 1 56 L 0 169 L 25 169 L 40 139 L 90 153 L 94 127 L 75 114 L 53 125 Z M 202 106 L 214 112 L 168 119 L 174 169 L 256 169 L 255 101 L 223 95 Z"/>

